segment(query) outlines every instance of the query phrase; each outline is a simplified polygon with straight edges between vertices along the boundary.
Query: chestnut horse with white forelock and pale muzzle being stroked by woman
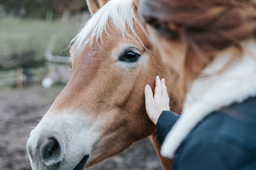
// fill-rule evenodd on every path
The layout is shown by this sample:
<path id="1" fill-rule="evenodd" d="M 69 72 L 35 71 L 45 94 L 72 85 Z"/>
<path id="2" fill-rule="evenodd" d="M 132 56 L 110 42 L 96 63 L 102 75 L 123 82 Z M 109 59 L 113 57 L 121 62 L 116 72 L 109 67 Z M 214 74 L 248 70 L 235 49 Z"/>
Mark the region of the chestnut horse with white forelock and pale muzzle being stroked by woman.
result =
<path id="1" fill-rule="evenodd" d="M 159 75 L 168 81 L 170 106 L 176 74 L 164 66 L 132 0 L 88 0 L 92 17 L 72 40 L 72 76 L 31 131 L 32 169 L 83 169 L 150 136 L 163 169 L 161 145 L 145 111 L 144 87 Z"/>

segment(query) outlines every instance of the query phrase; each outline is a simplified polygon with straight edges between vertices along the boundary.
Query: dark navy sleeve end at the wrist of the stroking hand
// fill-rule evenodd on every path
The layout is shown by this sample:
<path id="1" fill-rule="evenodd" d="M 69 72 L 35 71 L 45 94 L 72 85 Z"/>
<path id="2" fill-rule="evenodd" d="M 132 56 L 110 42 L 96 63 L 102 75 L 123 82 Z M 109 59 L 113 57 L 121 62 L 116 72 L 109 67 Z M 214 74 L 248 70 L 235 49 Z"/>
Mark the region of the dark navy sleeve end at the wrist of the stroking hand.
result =
<path id="1" fill-rule="evenodd" d="M 161 145 L 168 132 L 172 129 L 175 122 L 179 119 L 179 115 L 172 111 L 163 111 L 157 120 L 157 134 Z"/>

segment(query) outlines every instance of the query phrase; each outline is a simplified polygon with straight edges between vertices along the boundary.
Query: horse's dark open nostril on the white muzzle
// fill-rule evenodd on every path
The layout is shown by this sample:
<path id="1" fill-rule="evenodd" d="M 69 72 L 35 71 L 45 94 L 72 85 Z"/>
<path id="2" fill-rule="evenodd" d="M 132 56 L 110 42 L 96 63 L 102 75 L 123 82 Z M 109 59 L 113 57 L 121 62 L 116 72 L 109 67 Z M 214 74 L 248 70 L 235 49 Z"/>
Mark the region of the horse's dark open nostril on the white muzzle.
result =
<path id="1" fill-rule="evenodd" d="M 49 138 L 40 148 L 41 157 L 46 166 L 57 164 L 62 159 L 61 147 L 55 138 Z"/>

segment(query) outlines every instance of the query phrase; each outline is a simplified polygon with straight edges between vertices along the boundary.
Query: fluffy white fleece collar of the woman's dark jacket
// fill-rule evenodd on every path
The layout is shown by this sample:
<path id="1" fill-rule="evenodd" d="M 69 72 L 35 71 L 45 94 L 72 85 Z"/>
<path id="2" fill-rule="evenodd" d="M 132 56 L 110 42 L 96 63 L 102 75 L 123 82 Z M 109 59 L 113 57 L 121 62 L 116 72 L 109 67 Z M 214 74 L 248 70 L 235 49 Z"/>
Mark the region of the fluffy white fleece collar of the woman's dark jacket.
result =
<path id="1" fill-rule="evenodd" d="M 241 103 L 256 96 L 256 41 L 244 41 L 243 57 L 220 74 L 198 78 L 191 85 L 182 115 L 164 140 L 161 154 L 173 157 L 177 148 L 200 120 L 214 110 Z M 234 50 L 221 53 L 203 73 L 216 73 L 227 63 Z"/>

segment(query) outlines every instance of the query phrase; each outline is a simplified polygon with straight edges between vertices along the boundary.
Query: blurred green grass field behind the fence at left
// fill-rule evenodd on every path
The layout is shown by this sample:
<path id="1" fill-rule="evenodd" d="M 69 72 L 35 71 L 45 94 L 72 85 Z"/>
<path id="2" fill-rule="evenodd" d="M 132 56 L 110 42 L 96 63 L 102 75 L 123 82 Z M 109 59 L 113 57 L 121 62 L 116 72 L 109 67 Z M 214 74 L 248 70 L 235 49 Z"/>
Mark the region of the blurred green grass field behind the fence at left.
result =
<path id="1" fill-rule="evenodd" d="M 0 70 L 37 67 L 44 64 L 44 52 L 52 36 L 54 55 L 68 55 L 65 48 L 76 36 L 82 22 L 0 18 Z"/>

